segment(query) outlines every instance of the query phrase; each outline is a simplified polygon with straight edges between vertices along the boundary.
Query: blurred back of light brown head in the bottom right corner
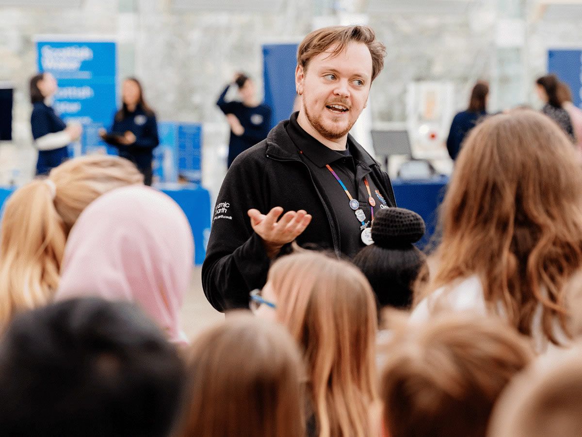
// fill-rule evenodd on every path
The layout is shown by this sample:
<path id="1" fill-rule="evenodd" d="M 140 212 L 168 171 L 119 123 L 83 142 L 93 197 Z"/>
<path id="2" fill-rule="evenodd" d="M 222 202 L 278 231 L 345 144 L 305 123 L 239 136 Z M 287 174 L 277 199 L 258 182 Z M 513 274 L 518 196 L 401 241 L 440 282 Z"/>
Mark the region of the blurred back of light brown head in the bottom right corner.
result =
<path id="1" fill-rule="evenodd" d="M 574 351 L 572 351 L 574 352 Z M 560 357 L 551 368 L 531 367 L 503 392 L 489 437 L 579 437 L 582 434 L 582 358 Z"/>

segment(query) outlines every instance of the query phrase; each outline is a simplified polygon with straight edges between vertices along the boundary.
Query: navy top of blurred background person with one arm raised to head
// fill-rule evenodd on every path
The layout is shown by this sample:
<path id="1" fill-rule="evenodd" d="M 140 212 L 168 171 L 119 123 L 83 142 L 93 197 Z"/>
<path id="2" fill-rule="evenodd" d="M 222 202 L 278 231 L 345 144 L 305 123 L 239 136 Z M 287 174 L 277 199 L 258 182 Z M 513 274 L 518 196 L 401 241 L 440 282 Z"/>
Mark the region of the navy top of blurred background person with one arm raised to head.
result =
<path id="1" fill-rule="evenodd" d="M 244 133 L 238 136 L 230 131 L 228 167 L 244 150 L 267 138 L 267 134 L 271 130 L 271 108 L 264 103 L 249 107 L 240 101 L 226 101 L 224 99 L 229 88 L 230 85 L 222 91 L 217 105 L 225 115 L 233 114 L 239 119 L 240 125 L 244 128 Z"/>

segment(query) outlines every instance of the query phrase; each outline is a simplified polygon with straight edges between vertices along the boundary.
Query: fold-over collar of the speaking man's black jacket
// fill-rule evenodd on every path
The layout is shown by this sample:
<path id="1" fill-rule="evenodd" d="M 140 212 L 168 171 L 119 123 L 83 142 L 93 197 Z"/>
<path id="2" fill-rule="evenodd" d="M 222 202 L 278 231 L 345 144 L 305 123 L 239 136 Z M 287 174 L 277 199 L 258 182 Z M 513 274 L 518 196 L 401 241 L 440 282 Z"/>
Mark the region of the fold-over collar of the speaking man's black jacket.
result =
<path id="1" fill-rule="evenodd" d="M 271 132 L 267 135 L 266 155 L 267 157 L 279 160 L 301 161 L 301 158 L 299 157 L 300 150 L 297 149 L 287 133 L 286 128 L 288 123 L 289 120 L 283 120 L 271 129 Z M 377 161 L 375 161 L 374 158 L 372 158 L 370 154 L 368 154 L 368 152 L 365 151 L 356 140 L 354 140 L 352 135 L 347 135 L 347 142 L 351 145 L 350 153 L 352 153 L 356 162 L 359 161 L 370 167 L 372 165 L 378 165 Z"/>

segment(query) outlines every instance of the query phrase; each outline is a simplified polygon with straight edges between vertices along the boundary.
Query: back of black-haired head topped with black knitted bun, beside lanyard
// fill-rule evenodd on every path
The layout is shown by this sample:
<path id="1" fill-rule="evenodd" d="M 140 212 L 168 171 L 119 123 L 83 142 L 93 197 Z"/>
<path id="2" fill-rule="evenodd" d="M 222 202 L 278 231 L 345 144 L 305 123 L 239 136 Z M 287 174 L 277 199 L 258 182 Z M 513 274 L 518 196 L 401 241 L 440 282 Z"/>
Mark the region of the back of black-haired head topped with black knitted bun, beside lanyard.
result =
<path id="1" fill-rule="evenodd" d="M 424 220 L 403 208 L 378 210 L 372 224 L 374 244 L 366 246 L 353 263 L 370 281 L 380 307 L 407 309 L 412 287 L 426 263 L 414 245 L 424 235 Z"/>

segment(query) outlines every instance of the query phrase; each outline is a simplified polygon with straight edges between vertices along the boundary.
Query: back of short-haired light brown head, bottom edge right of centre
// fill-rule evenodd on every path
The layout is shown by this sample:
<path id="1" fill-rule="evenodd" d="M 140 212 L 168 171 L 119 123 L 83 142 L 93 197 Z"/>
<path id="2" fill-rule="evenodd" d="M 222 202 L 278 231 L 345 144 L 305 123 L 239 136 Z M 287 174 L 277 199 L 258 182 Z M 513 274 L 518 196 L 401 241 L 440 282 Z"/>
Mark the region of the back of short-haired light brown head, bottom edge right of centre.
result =
<path id="1" fill-rule="evenodd" d="M 483 437 L 495 400 L 533 358 L 501 320 L 446 314 L 396 330 L 381 396 L 391 437 Z"/>

